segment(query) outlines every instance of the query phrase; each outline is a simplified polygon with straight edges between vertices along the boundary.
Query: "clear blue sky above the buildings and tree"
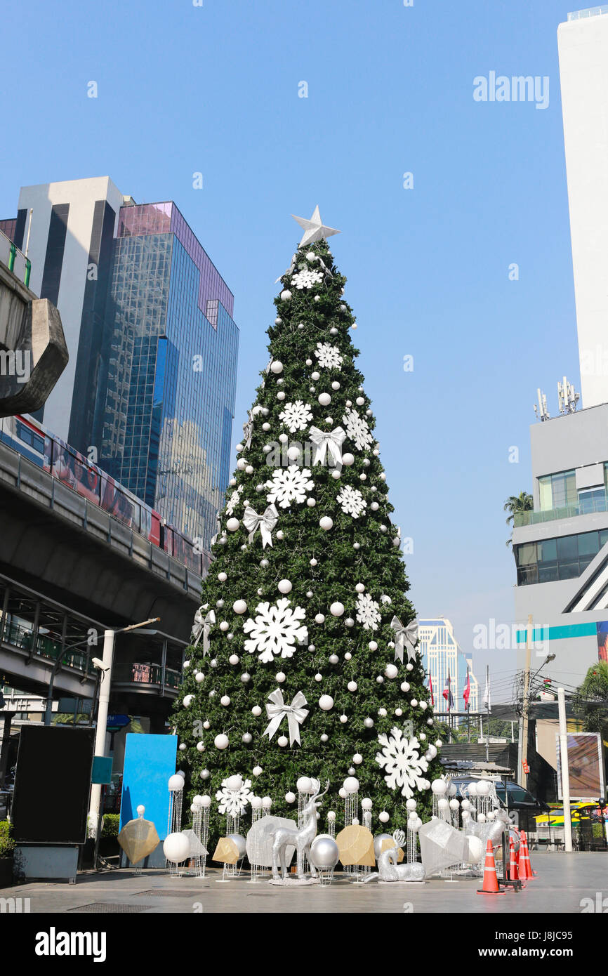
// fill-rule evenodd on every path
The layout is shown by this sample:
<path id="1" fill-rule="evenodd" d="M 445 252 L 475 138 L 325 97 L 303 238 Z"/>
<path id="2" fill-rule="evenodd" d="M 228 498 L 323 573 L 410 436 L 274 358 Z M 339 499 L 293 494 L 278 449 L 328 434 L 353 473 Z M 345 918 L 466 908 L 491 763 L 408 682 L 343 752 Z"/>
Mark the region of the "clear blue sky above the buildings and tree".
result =
<path id="1" fill-rule="evenodd" d="M 531 487 L 537 386 L 552 414 L 558 379 L 579 386 L 556 44 L 571 9 L 29 0 L 3 12 L 0 216 L 16 214 L 21 184 L 81 177 L 109 175 L 138 203 L 174 199 L 235 295 L 234 443 L 266 362 L 274 279 L 299 239 L 290 214 L 318 203 L 342 230 L 331 244 L 396 520 L 414 541 L 412 597 L 421 616 L 452 620 L 464 650 L 476 624 L 513 621 L 503 504 Z M 548 76 L 547 108 L 473 101 L 490 71 Z M 473 660 L 509 698 L 514 654 Z"/>

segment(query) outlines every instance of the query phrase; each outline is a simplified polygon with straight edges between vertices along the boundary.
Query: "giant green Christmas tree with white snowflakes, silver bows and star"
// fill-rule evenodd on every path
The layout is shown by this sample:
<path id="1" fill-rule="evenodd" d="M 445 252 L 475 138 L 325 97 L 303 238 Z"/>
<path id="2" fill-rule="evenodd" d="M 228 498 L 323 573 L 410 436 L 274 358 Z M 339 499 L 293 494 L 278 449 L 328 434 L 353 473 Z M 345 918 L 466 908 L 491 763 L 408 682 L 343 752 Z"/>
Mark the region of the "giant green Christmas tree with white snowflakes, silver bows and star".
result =
<path id="1" fill-rule="evenodd" d="M 280 278 L 185 663 L 179 749 L 190 796 L 240 774 L 293 816 L 285 795 L 307 776 L 330 781 L 340 811 L 354 776 L 395 830 L 408 799 L 429 811 L 441 744 L 346 279 L 326 241 L 338 231 L 318 208 L 296 220 L 304 237 Z"/>

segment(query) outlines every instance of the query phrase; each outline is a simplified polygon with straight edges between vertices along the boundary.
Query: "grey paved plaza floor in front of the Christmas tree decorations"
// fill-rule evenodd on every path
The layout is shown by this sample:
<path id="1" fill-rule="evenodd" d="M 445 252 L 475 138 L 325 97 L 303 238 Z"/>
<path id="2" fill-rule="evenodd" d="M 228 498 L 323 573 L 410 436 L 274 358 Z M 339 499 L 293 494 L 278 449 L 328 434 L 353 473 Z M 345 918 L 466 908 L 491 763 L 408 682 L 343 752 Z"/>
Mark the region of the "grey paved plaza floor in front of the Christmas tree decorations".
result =
<path id="1" fill-rule="evenodd" d="M 521 892 L 479 895 L 479 879 L 422 884 L 353 884 L 337 873 L 330 886 L 280 887 L 249 873 L 222 882 L 211 868 L 204 878 L 171 877 L 168 871 L 84 872 L 75 884 L 32 882 L 0 890 L 0 898 L 29 899 L 30 913 L 447 913 L 581 914 L 608 895 L 608 856 L 601 853 L 534 852 L 538 876 Z M 599 898 L 598 898 L 599 894 Z M 588 901 L 584 901 L 587 899 Z M 608 902 L 607 902 L 608 905 Z M 597 907 L 588 911 L 598 911 Z"/>

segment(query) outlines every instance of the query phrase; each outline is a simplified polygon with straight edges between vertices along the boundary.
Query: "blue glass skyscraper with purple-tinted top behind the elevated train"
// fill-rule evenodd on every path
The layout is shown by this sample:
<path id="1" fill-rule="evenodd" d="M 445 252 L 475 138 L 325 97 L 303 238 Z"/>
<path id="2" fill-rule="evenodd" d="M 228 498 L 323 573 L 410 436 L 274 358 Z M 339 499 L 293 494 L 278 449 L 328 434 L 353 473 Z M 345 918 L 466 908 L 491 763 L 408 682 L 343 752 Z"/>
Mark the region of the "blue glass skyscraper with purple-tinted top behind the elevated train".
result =
<path id="1" fill-rule="evenodd" d="M 175 203 L 120 209 L 89 443 L 101 468 L 205 548 L 229 478 L 233 301 Z"/>

